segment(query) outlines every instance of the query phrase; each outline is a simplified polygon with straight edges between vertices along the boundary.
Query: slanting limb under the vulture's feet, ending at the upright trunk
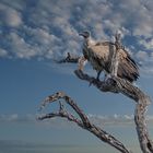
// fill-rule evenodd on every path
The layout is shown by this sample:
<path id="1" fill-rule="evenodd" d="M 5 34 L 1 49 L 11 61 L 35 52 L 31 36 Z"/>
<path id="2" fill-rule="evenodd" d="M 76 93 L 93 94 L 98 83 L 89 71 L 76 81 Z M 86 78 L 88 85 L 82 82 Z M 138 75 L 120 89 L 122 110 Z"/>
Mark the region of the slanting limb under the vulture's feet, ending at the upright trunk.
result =
<path id="1" fill-rule="evenodd" d="M 140 90 L 137 86 L 133 86 L 130 82 L 118 76 L 108 78 L 106 81 L 99 81 L 81 70 L 75 70 L 74 73 L 79 79 L 92 82 L 92 84 L 102 92 L 122 93 L 136 102 L 139 99 L 136 93 Z"/>

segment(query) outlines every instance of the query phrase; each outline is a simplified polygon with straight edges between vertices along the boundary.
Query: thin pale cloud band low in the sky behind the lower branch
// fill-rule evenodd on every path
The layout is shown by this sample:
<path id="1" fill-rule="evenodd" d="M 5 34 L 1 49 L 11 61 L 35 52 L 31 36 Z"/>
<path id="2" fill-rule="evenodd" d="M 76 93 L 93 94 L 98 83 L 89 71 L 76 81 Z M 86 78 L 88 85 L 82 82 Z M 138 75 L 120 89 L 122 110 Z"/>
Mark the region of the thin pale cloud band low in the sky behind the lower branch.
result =
<path id="1" fill-rule="evenodd" d="M 37 126 L 49 126 L 49 127 L 56 127 L 56 128 L 75 128 L 75 123 L 72 123 L 63 118 L 52 118 L 52 119 L 46 119 L 46 120 L 37 120 L 37 117 L 43 115 L 0 115 L 0 122 L 1 123 L 34 123 Z M 128 125 L 134 125 L 134 116 L 133 115 L 117 115 L 114 116 L 103 116 L 103 115 L 87 115 L 89 119 L 92 123 L 97 125 L 98 127 L 104 126 L 128 126 Z M 146 116 L 148 123 L 153 123 L 153 116 Z"/>

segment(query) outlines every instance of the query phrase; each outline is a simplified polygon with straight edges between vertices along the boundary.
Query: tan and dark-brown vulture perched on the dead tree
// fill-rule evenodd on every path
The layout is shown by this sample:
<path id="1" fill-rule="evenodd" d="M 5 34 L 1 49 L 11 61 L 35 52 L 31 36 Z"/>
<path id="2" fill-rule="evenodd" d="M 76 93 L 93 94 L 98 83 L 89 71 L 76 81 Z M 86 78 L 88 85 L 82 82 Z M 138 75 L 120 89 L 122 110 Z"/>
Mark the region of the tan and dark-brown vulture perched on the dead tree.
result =
<path id="1" fill-rule="evenodd" d="M 79 34 L 84 38 L 83 56 L 94 70 L 97 71 L 97 80 L 102 71 L 105 76 L 110 73 L 110 66 L 114 50 L 116 49 L 115 43 L 111 42 L 95 42 L 92 39 L 90 32 L 82 32 Z M 139 68 L 136 61 L 131 58 L 125 47 L 119 50 L 119 62 L 117 76 L 128 80 L 129 82 L 137 81 L 139 78 Z"/>

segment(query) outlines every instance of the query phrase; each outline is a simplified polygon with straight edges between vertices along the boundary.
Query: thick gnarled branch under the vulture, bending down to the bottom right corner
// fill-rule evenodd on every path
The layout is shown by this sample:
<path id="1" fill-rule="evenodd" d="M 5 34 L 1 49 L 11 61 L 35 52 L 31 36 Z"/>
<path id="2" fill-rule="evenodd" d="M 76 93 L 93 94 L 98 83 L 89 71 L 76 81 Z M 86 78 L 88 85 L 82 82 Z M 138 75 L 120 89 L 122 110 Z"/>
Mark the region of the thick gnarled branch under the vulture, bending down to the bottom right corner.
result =
<path id="1" fill-rule="evenodd" d="M 132 98 L 136 105 L 134 121 L 137 126 L 137 132 L 139 142 L 143 153 L 153 153 L 153 142 L 149 138 L 149 132 L 145 121 L 146 107 L 151 103 L 150 97 L 145 95 L 139 87 L 131 84 L 129 81 L 120 79 L 118 76 L 108 78 L 105 82 L 97 81 L 95 78 L 83 73 L 80 70 L 75 70 L 74 73 L 81 80 L 91 82 L 102 92 L 122 93 L 123 95 Z"/>

